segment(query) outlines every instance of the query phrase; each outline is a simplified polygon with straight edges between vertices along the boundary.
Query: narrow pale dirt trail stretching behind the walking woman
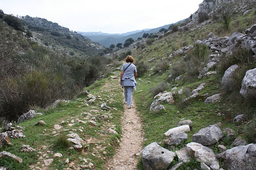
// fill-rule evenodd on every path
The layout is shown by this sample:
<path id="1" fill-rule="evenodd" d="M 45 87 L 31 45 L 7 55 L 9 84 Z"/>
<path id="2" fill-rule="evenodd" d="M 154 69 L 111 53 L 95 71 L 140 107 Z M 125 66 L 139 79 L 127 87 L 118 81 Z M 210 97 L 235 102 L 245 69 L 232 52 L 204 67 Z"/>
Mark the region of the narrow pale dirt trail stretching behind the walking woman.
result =
<path id="1" fill-rule="evenodd" d="M 108 169 L 137 169 L 137 163 L 141 155 L 143 131 L 142 122 L 136 111 L 134 101 L 132 108 L 124 106 L 122 117 L 122 139 L 113 160 Z"/>

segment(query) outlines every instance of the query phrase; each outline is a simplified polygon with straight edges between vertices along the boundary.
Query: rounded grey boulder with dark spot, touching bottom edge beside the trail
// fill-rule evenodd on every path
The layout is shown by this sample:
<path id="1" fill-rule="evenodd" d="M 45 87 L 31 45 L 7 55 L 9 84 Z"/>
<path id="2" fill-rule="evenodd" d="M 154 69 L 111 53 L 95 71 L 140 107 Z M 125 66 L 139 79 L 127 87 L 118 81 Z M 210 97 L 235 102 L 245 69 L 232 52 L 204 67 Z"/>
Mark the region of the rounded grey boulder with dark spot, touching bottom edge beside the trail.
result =
<path id="1" fill-rule="evenodd" d="M 175 152 L 164 149 L 153 142 L 142 150 L 143 167 L 145 170 L 166 169 L 175 156 Z"/>

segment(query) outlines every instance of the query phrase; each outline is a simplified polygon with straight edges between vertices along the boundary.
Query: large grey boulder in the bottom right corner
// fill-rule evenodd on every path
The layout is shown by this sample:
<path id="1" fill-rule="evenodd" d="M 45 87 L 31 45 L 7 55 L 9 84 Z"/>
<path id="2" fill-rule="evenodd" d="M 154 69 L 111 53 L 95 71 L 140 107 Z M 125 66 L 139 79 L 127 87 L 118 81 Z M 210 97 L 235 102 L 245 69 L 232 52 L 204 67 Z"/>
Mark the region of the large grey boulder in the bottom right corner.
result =
<path id="1" fill-rule="evenodd" d="M 251 153 L 251 150 L 255 147 L 256 144 L 253 143 L 240 145 L 218 154 L 217 157 L 225 160 L 224 162 L 228 169 L 255 169 L 256 157 L 252 156 Z"/>

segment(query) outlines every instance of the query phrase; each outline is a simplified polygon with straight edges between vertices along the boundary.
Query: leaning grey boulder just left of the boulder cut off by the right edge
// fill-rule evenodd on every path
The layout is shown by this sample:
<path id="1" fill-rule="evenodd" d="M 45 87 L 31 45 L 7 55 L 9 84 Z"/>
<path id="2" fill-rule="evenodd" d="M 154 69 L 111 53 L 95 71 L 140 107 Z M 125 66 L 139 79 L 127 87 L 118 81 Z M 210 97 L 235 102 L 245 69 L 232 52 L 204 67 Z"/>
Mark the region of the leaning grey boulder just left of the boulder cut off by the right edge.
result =
<path id="1" fill-rule="evenodd" d="M 236 69 L 238 69 L 239 66 L 238 65 L 231 65 L 230 67 L 228 67 L 228 69 L 225 71 L 224 76 L 222 77 L 222 86 L 227 89 L 228 91 L 233 90 L 231 83 L 232 83 L 232 78 L 234 75 L 234 72 L 236 71 Z"/>

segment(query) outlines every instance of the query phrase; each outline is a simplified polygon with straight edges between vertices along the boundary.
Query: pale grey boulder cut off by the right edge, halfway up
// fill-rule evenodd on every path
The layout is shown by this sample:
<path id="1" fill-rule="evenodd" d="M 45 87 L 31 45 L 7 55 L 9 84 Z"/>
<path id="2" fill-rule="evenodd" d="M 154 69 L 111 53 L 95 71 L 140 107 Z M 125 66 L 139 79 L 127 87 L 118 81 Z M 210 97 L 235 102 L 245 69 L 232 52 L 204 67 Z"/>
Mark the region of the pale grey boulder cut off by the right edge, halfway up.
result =
<path id="1" fill-rule="evenodd" d="M 256 68 L 246 71 L 242 81 L 242 88 L 240 94 L 245 99 L 256 98 Z"/>

